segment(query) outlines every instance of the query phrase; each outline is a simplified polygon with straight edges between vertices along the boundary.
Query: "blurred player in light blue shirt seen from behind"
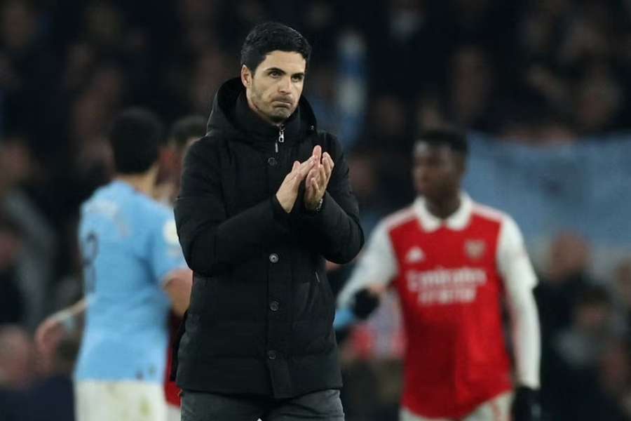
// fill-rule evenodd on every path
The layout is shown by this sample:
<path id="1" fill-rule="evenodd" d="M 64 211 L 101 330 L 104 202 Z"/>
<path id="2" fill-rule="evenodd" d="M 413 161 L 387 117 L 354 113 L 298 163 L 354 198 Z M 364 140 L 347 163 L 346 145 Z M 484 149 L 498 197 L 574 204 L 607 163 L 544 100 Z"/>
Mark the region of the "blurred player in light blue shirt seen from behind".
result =
<path id="1" fill-rule="evenodd" d="M 163 421 L 167 316 L 189 305 L 191 271 L 179 247 L 172 210 L 151 199 L 162 127 L 142 109 L 114 121 L 116 177 L 81 207 L 79 241 L 86 297 L 43 323 L 85 309 L 75 368 L 78 421 Z M 45 342 L 45 341 L 44 341 Z"/>

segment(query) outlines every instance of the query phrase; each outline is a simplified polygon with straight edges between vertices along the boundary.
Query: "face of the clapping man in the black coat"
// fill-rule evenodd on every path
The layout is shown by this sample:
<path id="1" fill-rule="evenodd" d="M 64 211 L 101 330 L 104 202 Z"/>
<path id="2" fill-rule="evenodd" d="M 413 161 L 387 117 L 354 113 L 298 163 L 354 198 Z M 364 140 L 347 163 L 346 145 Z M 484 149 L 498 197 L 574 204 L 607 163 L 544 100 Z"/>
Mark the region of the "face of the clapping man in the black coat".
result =
<path id="1" fill-rule="evenodd" d="M 241 69 L 250 107 L 271 123 L 285 121 L 298 107 L 306 60 L 300 53 L 272 51 L 265 56 L 254 73 Z"/>

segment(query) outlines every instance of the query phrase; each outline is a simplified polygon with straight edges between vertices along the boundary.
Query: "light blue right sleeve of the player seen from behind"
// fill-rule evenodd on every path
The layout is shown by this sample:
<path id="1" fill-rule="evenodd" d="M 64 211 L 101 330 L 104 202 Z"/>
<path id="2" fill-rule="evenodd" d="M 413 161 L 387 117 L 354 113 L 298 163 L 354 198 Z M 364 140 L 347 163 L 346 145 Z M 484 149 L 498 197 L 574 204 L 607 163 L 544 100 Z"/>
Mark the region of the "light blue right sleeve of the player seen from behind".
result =
<path id="1" fill-rule="evenodd" d="M 162 212 L 161 217 L 156 218 L 150 235 L 151 269 L 156 282 L 162 284 L 169 272 L 186 268 L 182 247 L 179 246 L 177 239 L 173 213 L 166 210 Z"/>

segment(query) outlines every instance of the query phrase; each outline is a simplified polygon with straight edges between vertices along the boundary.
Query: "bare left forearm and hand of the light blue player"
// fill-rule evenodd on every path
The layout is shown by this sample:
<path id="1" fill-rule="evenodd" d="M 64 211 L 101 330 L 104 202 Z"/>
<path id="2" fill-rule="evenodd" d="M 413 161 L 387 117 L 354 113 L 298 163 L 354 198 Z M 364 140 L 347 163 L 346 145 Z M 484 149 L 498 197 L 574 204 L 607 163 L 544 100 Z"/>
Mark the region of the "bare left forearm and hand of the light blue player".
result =
<path id="1" fill-rule="evenodd" d="M 87 307 L 88 300 L 84 297 L 44 319 L 35 330 L 35 345 L 39 352 L 46 355 L 53 352 L 59 341 L 79 326 L 79 319 Z"/>

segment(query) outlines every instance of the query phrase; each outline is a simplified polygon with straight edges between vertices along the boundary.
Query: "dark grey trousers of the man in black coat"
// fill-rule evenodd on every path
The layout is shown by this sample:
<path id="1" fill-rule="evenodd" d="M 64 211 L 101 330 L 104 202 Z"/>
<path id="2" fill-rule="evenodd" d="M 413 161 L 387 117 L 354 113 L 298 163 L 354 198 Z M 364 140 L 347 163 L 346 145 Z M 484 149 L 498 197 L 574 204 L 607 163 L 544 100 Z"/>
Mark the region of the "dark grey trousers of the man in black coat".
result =
<path id="1" fill-rule="evenodd" d="M 344 421 L 339 390 L 292 399 L 182 392 L 182 421 Z"/>

